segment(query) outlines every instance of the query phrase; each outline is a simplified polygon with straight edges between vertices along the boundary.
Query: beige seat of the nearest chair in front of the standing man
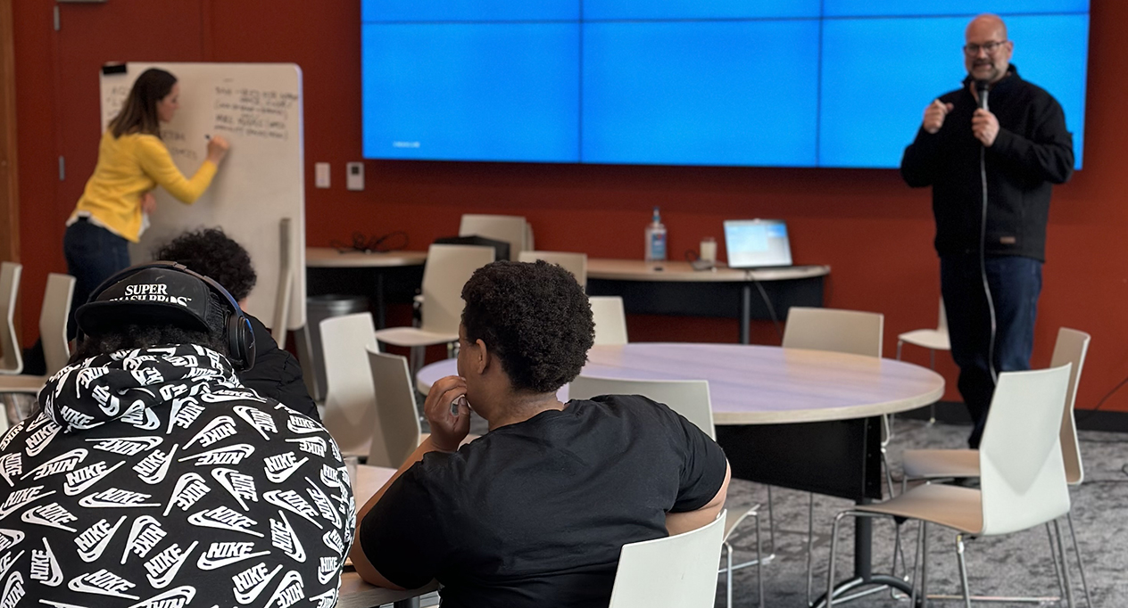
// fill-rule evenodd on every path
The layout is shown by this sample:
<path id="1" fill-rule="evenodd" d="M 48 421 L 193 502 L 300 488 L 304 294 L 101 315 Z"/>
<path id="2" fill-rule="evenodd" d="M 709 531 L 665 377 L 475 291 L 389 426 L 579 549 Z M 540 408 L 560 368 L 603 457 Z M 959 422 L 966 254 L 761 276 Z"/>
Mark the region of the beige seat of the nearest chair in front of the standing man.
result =
<path id="1" fill-rule="evenodd" d="M 968 534 L 984 529 L 982 494 L 958 485 L 926 484 L 874 504 L 858 504 L 858 511 L 922 519 Z"/>

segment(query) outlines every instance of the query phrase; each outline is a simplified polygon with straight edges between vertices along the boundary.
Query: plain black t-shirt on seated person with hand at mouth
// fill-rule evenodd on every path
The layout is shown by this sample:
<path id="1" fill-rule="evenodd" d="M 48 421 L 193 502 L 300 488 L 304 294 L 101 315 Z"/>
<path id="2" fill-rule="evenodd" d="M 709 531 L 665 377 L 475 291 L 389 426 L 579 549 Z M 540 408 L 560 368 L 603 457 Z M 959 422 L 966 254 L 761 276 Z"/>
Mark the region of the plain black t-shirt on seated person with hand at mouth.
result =
<path id="1" fill-rule="evenodd" d="M 438 579 L 448 608 L 607 606 L 623 545 L 667 536 L 666 513 L 707 504 L 724 474 L 721 448 L 666 405 L 572 401 L 425 455 L 360 542 L 396 584 Z"/>

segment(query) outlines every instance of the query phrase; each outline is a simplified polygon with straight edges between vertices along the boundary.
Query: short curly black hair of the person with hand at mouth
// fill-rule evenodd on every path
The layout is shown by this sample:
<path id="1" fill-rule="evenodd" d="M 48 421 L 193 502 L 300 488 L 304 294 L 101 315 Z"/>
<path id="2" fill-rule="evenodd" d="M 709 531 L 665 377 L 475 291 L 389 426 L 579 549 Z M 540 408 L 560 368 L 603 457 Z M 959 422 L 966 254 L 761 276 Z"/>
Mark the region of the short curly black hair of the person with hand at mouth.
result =
<path id="1" fill-rule="evenodd" d="M 554 393 L 588 360 L 596 324 L 571 272 L 544 260 L 496 261 L 462 287 L 462 325 L 501 359 L 515 391 Z"/>

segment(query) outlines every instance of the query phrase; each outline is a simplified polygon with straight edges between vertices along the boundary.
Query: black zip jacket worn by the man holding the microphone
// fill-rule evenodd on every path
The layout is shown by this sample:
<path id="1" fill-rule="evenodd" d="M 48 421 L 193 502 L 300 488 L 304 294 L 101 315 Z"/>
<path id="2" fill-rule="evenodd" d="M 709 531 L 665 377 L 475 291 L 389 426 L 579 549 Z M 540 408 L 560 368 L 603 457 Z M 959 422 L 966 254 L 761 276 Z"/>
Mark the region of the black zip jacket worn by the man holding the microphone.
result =
<path id="1" fill-rule="evenodd" d="M 941 256 L 979 251 L 982 144 L 971 134 L 971 115 L 978 106 L 968 82 L 940 98 L 953 106 L 944 125 L 935 134 L 918 131 L 901 159 L 901 177 L 909 186 L 932 186 L 935 244 Z M 999 131 L 985 152 L 985 252 L 1045 261 L 1050 188 L 1073 173 L 1073 135 L 1066 131 L 1065 113 L 1050 93 L 1019 78 L 1013 64 L 992 87 L 988 109 L 998 119 Z"/>

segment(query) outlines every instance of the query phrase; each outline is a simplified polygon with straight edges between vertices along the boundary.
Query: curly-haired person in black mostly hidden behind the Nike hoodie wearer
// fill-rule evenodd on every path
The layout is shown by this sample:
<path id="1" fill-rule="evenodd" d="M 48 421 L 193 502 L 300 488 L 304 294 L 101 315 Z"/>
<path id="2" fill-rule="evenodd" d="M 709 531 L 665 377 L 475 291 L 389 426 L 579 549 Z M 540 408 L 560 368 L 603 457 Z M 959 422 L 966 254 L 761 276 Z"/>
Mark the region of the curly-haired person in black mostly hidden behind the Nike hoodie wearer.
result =
<path id="1" fill-rule="evenodd" d="M 240 306 L 255 286 L 258 275 L 250 265 L 250 254 L 222 229 L 203 229 L 185 232 L 158 249 L 153 259 L 175 261 L 190 270 L 211 277 L 223 286 Z M 244 313 L 246 314 L 246 313 Z M 255 332 L 255 366 L 239 372 L 244 386 L 262 396 L 284 403 L 296 412 L 321 421 L 317 404 L 301 378 L 301 365 L 285 350 L 279 348 L 263 322 L 246 314 Z"/>

